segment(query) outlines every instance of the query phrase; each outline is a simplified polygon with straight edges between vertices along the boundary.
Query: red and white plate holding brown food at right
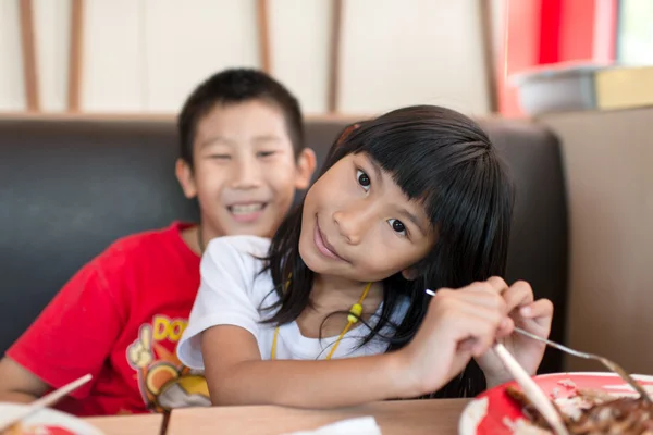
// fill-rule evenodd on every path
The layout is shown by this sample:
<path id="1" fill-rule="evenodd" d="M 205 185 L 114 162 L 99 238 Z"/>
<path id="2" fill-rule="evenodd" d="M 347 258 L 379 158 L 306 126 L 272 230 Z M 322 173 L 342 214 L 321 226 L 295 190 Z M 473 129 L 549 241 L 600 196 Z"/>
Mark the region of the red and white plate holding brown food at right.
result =
<path id="1" fill-rule="evenodd" d="M 646 390 L 653 393 L 653 376 L 634 375 Z M 550 397 L 569 397 L 576 388 L 602 390 L 614 396 L 633 396 L 632 387 L 614 373 L 554 373 L 534 376 L 535 383 Z M 460 435 L 509 435 L 513 432 L 506 423 L 523 419 L 521 408 L 510 400 L 506 387 L 515 382 L 500 385 L 477 396 L 463 411 L 458 424 Z"/>

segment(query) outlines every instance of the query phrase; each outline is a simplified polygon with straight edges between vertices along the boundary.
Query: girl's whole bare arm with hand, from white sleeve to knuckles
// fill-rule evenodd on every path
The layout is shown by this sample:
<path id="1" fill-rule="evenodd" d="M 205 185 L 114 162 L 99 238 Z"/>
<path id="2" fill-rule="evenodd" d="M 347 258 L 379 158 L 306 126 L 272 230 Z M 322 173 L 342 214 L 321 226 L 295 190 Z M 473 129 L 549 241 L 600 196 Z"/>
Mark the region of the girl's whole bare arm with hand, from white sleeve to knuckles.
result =
<path id="1" fill-rule="evenodd" d="M 246 330 L 210 327 L 201 334 L 201 350 L 211 400 L 332 408 L 435 391 L 472 356 L 484 353 L 497 335 L 512 332 L 501 297 L 504 289 L 494 281 L 438 291 L 412 341 L 372 357 L 262 361 Z"/>

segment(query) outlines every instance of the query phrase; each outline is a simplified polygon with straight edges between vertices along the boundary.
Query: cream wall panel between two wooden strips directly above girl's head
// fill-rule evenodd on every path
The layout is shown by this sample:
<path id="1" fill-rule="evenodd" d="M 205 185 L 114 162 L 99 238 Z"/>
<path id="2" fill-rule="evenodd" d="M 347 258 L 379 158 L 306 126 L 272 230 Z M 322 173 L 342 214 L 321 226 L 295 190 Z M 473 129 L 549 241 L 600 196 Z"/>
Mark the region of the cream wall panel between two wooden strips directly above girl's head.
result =
<path id="1" fill-rule="evenodd" d="M 374 112 L 415 103 L 488 111 L 476 0 L 345 1 L 341 107 Z"/>

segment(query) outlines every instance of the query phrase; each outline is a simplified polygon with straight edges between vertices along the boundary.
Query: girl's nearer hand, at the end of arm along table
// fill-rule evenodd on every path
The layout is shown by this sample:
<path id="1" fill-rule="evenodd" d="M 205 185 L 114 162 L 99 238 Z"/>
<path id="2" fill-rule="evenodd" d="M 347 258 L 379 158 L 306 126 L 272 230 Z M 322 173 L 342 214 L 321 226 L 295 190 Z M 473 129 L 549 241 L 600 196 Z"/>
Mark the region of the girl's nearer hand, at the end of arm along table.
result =
<path id="1" fill-rule="evenodd" d="M 491 278 L 435 293 L 415 338 L 397 352 L 408 397 L 436 391 L 512 332 L 507 301 L 513 296 L 502 296 L 507 289 L 503 279 Z"/>

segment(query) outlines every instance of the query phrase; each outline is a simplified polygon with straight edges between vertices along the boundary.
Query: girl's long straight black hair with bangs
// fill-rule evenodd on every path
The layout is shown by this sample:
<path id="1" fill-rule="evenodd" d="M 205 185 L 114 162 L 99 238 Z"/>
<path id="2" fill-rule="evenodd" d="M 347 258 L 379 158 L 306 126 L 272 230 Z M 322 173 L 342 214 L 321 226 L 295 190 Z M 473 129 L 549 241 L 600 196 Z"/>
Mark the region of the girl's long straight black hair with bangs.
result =
<path id="1" fill-rule="evenodd" d="M 364 152 L 411 200 L 423 203 L 438 240 L 415 265 L 418 276 L 401 273 L 383 282 L 383 309 L 362 344 L 394 326 L 387 350 L 405 346 L 424 318 L 424 289 L 459 288 L 505 273 L 513 213 L 513 185 L 488 135 L 467 116 L 440 107 L 417 105 L 386 113 L 348 128 L 331 148 L 321 174 L 349 153 Z M 272 238 L 267 269 L 279 302 L 266 322 L 295 321 L 310 304 L 313 273 L 299 256 L 303 206 L 284 220 Z M 292 279 L 288 281 L 288 276 Z M 390 319 L 403 301 L 408 310 L 398 325 Z M 483 373 L 472 361 L 431 397 L 471 397 L 485 388 Z"/>

